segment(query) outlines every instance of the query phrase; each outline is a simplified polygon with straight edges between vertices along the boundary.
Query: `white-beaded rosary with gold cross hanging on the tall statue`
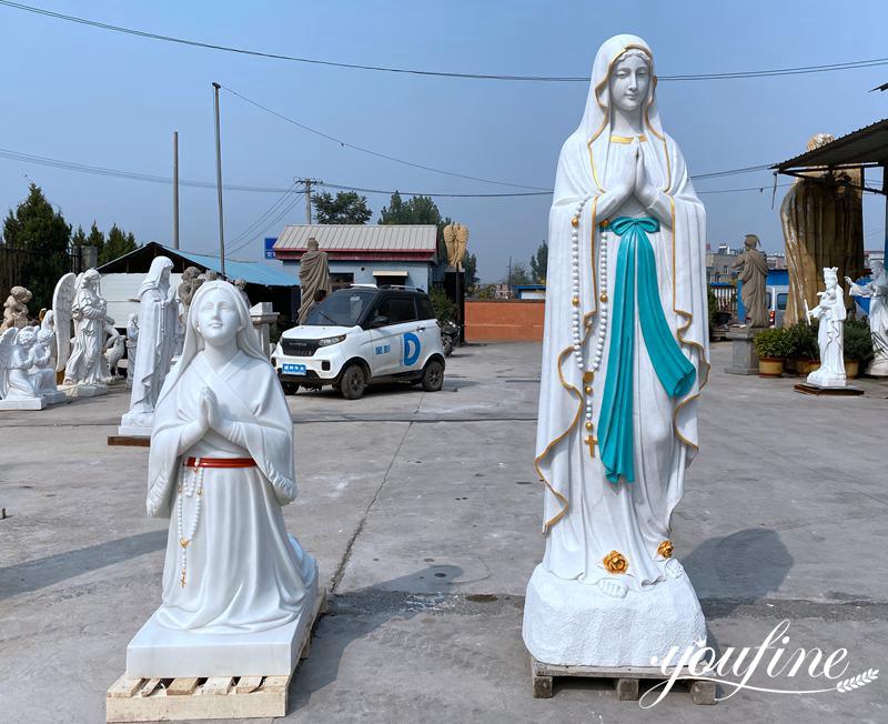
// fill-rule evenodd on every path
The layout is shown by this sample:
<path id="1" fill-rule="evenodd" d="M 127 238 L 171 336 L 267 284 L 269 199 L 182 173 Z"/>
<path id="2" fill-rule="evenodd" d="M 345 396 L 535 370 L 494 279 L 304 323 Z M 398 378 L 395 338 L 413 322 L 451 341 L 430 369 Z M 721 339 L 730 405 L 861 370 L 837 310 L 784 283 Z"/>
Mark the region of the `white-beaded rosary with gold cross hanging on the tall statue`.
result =
<path id="1" fill-rule="evenodd" d="M 586 431 L 588 438 L 584 442 L 589 446 L 589 454 L 595 455 L 595 444 L 598 442 L 592 434 L 592 410 L 593 410 L 593 388 L 592 381 L 595 373 L 602 364 L 602 355 L 604 354 L 604 342 L 607 335 L 607 231 L 602 230 L 602 242 L 598 245 L 598 334 L 595 341 L 595 352 L 592 358 L 592 369 L 586 370 L 583 361 L 583 334 L 582 334 L 582 312 L 579 304 L 579 219 L 592 194 L 576 204 L 576 213 L 571 219 L 573 230 L 571 232 L 572 240 L 572 268 L 573 268 L 573 289 L 574 293 L 571 299 L 573 306 L 573 339 L 574 339 L 574 360 L 583 378 L 583 393 L 585 399 L 585 413 L 586 413 Z M 603 225 L 606 228 L 607 222 Z M 595 230 L 592 232 L 592 244 L 595 243 Z"/>

